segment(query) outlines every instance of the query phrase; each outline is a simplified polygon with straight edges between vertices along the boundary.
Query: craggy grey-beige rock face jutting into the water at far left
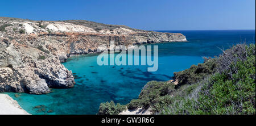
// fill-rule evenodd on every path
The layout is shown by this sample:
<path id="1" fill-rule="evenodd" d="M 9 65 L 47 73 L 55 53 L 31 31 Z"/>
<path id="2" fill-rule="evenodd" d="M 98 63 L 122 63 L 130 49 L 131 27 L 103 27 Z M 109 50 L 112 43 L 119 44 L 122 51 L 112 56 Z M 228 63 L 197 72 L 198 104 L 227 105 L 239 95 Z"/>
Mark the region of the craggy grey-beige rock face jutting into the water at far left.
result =
<path id="1" fill-rule="evenodd" d="M 12 42 L 7 45 L 0 39 L 0 92 L 46 94 L 49 88 L 73 87 L 72 72 L 59 57 Z"/>

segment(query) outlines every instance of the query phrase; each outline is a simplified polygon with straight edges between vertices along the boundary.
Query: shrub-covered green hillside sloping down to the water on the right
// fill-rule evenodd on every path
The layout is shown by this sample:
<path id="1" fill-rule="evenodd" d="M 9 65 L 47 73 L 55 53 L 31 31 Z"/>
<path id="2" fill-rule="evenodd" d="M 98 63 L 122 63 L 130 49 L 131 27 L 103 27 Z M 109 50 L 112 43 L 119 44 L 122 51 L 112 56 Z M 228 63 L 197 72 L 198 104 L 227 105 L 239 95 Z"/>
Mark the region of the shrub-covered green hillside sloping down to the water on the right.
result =
<path id="1" fill-rule="evenodd" d="M 255 44 L 238 44 L 205 58 L 203 64 L 174 73 L 174 79 L 178 84 L 148 82 L 138 99 L 125 106 L 151 108 L 152 114 L 255 114 Z M 99 112 L 122 110 L 119 104 L 105 107 L 109 104 L 101 103 Z"/>

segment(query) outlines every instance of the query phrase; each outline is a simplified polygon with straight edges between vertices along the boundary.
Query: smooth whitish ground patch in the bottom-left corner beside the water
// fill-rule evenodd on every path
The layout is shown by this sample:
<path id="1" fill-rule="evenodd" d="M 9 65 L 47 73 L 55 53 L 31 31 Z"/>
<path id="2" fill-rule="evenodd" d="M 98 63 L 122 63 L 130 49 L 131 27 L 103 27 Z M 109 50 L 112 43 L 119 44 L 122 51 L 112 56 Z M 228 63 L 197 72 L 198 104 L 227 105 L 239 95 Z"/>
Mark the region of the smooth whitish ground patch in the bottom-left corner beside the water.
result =
<path id="1" fill-rule="evenodd" d="M 7 94 L 0 94 L 0 115 L 29 115 Z"/>

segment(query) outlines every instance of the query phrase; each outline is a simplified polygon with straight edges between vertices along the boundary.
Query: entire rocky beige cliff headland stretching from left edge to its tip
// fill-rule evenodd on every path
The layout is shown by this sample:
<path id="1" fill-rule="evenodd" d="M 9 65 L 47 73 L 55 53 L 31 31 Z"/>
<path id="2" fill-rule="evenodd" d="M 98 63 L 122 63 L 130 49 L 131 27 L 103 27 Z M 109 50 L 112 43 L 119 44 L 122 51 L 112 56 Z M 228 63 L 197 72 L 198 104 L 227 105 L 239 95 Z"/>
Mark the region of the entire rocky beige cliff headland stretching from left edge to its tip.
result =
<path id="1" fill-rule="evenodd" d="M 181 33 L 137 30 L 86 20 L 33 21 L 0 17 L 0 92 L 49 93 L 75 84 L 61 62 L 71 54 L 115 45 L 186 41 Z M 102 48 L 104 47 L 104 48 Z"/>

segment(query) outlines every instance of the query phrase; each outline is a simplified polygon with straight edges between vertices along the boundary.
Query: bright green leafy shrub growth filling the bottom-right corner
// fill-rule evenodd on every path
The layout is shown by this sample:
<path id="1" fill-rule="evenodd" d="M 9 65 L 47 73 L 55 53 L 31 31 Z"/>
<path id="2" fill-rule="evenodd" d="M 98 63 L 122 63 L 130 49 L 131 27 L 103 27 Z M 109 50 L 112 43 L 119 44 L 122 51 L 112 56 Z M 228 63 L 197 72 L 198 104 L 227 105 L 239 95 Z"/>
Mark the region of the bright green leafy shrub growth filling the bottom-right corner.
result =
<path id="1" fill-rule="evenodd" d="M 232 79 L 226 73 L 216 74 L 203 87 L 199 96 L 202 114 L 255 114 L 255 55 L 233 67 L 238 72 Z"/>

